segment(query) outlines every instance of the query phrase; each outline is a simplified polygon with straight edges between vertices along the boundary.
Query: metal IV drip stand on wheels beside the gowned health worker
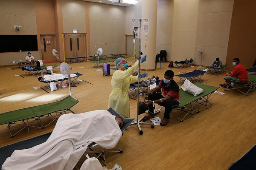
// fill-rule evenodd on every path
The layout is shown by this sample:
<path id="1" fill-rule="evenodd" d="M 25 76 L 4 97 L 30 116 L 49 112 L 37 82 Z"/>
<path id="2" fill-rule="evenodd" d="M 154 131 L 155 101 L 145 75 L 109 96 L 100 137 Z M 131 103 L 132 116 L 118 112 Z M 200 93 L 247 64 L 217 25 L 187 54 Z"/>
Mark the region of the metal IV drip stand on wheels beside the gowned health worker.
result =
<path id="1" fill-rule="evenodd" d="M 140 130 L 140 134 L 142 135 L 143 134 L 143 130 L 141 130 L 141 127 L 140 125 L 150 125 L 151 128 L 153 129 L 154 128 L 154 124 L 153 123 L 146 123 L 146 122 L 141 122 L 142 119 L 144 118 L 144 116 L 142 116 L 140 119 L 139 119 L 139 102 L 140 102 L 140 56 L 142 55 L 141 53 L 141 21 L 142 20 L 145 20 L 146 22 L 148 22 L 148 19 L 132 19 L 132 22 L 135 22 L 135 20 L 139 20 L 140 21 L 140 40 L 139 40 L 139 47 L 140 47 L 140 51 L 139 51 L 139 67 L 138 67 L 138 90 L 137 90 L 137 119 L 134 120 L 134 122 L 131 123 L 131 125 L 137 125 L 137 127 L 139 128 Z"/>

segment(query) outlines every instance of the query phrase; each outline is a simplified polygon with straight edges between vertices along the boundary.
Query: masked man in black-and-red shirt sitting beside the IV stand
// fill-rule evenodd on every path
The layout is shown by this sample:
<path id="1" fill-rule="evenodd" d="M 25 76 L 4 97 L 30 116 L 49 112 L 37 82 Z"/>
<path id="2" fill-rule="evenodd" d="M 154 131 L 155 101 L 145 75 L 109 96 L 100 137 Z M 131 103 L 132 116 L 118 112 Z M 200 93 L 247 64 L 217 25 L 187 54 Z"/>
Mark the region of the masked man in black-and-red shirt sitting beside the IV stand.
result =
<path id="1" fill-rule="evenodd" d="M 145 104 L 148 105 L 148 114 L 143 118 L 143 122 L 154 117 L 154 104 L 163 105 L 165 112 L 163 115 L 163 121 L 160 123 L 161 126 L 166 126 L 170 119 L 170 114 L 174 106 L 180 104 L 180 88 L 177 83 L 173 80 L 174 72 L 167 70 L 164 73 L 163 80 L 157 85 L 156 88 L 148 91 L 148 101 Z M 162 89 L 163 95 L 160 92 Z"/>

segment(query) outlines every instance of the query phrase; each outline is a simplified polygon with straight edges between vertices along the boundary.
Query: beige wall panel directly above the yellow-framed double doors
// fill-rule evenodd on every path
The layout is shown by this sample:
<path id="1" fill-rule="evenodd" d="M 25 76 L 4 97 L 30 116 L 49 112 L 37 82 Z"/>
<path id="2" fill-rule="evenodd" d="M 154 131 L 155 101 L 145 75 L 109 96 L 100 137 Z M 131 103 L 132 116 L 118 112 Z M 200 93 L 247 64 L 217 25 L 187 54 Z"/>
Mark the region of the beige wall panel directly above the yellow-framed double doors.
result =
<path id="1" fill-rule="evenodd" d="M 85 2 L 81 0 L 62 0 L 63 30 L 73 33 L 86 33 L 85 28 Z"/>

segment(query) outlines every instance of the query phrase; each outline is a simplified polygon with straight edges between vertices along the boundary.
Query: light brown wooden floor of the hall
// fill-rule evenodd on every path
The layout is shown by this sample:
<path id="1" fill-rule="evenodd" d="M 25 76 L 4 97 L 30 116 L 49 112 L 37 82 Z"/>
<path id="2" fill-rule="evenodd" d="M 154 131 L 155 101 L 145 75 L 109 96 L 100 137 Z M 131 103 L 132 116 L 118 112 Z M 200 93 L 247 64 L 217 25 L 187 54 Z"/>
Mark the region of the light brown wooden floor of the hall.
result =
<path id="1" fill-rule="evenodd" d="M 132 61 L 133 59 L 129 59 Z M 70 64 L 72 73 L 84 74 L 81 79 L 93 83 L 80 82 L 72 88 L 72 94 L 80 101 L 73 107 L 76 113 L 97 109 L 108 109 L 108 96 L 111 93 L 111 76 L 103 77 L 102 72 L 96 72 L 93 63 L 82 62 Z M 132 65 L 132 63 L 131 63 Z M 156 71 L 148 72 L 163 77 L 168 69 L 168 63 Z M 86 68 L 79 68 L 86 67 Z M 37 77 L 30 76 L 13 66 L 15 70 L 0 68 L 0 113 L 20 108 L 41 105 L 61 99 L 68 95 L 68 89 L 46 93 L 35 86 L 44 87 Z M 195 67 L 194 67 L 195 68 Z M 173 68 L 175 75 L 179 72 L 190 71 L 187 68 Z M 57 73 L 60 73 L 57 71 Z M 21 74 L 22 77 L 15 77 Z M 113 70 L 111 70 L 113 74 Z M 202 77 L 206 85 L 219 86 L 224 82 L 225 74 L 216 76 L 207 74 Z M 178 77 L 175 77 L 178 81 Z M 180 86 L 183 83 L 178 83 Z M 224 92 L 223 88 L 219 91 Z M 256 143 L 256 92 L 254 94 L 227 91 L 226 94 L 212 94 L 210 102 L 213 105 L 192 118 L 187 116 L 184 122 L 179 122 L 171 116 L 166 127 L 142 126 L 143 135 L 139 134 L 136 126 L 125 130 L 118 145 L 124 151 L 122 154 L 107 154 L 107 167 L 110 169 L 118 163 L 123 170 L 225 170 L 231 163 L 239 159 Z M 137 101 L 130 99 L 131 117 L 137 114 Z M 176 111 L 183 116 L 183 112 Z M 158 114 L 160 118 L 163 113 Z M 49 122 L 49 119 L 43 119 Z M 0 146 L 38 136 L 52 131 L 55 123 L 45 129 L 30 128 L 11 138 L 6 125 L 0 125 Z M 17 125 L 12 130 L 18 130 Z M 83 158 L 84 159 L 84 158 Z M 79 161 L 81 166 L 82 161 Z M 102 162 L 102 161 L 101 161 Z"/>

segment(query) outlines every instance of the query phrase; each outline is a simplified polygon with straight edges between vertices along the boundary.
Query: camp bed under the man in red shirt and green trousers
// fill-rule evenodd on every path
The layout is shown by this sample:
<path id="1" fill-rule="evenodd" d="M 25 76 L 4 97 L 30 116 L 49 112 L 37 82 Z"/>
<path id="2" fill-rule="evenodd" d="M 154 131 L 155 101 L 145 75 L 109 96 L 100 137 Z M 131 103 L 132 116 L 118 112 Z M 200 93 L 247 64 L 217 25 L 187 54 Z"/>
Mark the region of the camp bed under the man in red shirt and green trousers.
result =
<path id="1" fill-rule="evenodd" d="M 224 78 L 227 82 L 227 88 L 224 91 L 233 90 L 236 89 L 240 91 L 241 93 L 248 95 L 249 91 L 253 93 L 255 87 L 256 87 L 256 75 L 248 74 L 248 81 L 247 82 L 240 82 L 240 81 L 233 81 Z M 243 88 L 243 89 L 241 89 Z M 247 88 L 247 89 L 244 89 Z M 244 90 L 245 92 L 241 91 Z"/>

